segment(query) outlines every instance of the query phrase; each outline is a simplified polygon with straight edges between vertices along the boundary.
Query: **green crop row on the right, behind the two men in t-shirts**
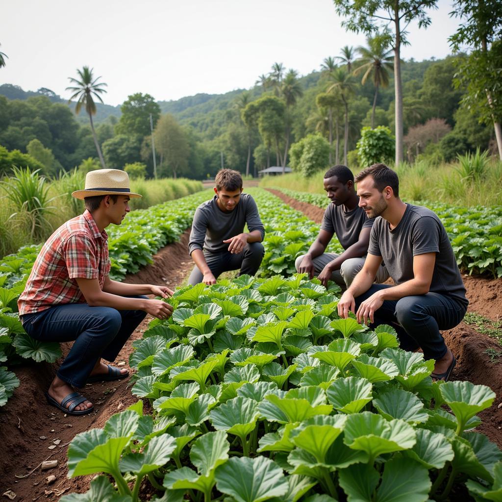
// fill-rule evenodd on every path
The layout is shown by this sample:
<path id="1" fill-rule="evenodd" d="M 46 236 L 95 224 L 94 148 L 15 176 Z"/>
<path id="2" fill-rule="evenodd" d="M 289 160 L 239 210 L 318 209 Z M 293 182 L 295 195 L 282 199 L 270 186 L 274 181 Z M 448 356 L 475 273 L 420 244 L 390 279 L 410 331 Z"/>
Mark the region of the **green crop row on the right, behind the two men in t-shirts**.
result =
<path id="1" fill-rule="evenodd" d="M 276 188 L 302 202 L 326 207 L 324 195 Z M 502 277 L 502 206 L 457 207 L 437 202 L 418 202 L 434 211 L 450 238 L 457 264 L 469 274 Z"/>

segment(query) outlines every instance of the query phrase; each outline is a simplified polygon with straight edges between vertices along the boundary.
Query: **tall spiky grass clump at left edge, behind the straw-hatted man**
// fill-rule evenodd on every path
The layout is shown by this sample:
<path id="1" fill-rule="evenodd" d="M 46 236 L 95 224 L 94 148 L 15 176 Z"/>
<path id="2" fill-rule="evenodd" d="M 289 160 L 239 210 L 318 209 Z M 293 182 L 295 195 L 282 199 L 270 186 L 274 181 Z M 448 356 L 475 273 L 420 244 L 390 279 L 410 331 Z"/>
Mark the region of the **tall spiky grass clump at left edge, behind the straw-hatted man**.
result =
<path id="1" fill-rule="evenodd" d="M 40 241 L 50 235 L 52 225 L 47 219 L 53 210 L 51 203 L 56 197 L 50 197 L 50 185 L 39 170 L 30 171 L 13 167 L 14 176 L 7 181 L 0 181 L 0 186 L 7 199 L 12 203 L 14 212 L 11 217 L 26 216 L 32 241 Z"/>

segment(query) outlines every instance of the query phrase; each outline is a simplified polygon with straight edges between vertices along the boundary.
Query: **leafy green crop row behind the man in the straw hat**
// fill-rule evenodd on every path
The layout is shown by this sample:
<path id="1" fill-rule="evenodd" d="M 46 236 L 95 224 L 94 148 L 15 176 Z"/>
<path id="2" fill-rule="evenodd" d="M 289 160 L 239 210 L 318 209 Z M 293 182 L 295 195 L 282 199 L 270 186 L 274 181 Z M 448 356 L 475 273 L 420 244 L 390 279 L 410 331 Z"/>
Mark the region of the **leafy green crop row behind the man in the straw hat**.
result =
<path id="1" fill-rule="evenodd" d="M 149 209 L 131 212 L 120 226 L 107 228 L 111 260 L 110 275 L 121 279 L 152 263 L 152 255 L 174 242 L 190 226 L 195 208 L 211 196 L 210 191 L 169 201 Z M 0 262 L 0 362 L 18 356 L 54 362 L 59 343 L 40 342 L 29 337 L 18 317 L 17 301 L 38 256 L 41 245 L 20 248 Z M 19 381 L 6 366 L 0 367 L 0 406 L 7 403 Z"/>

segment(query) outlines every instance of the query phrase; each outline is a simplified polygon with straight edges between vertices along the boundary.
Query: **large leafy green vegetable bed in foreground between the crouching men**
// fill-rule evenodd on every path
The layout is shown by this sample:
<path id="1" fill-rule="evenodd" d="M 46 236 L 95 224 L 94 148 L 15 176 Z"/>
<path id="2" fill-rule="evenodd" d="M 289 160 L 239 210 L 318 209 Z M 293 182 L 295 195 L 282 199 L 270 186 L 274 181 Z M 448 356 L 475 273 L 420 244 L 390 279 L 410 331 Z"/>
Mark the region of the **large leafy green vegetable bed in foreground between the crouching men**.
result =
<path id="1" fill-rule="evenodd" d="M 157 501 L 425 502 L 464 482 L 498 500 L 502 452 L 471 431 L 495 394 L 432 383 L 433 361 L 391 326 L 339 319 L 337 301 L 305 274 L 176 291 L 130 359 L 153 415 L 140 400 L 68 448 L 70 476 L 116 489 L 100 476 L 61 501 L 136 502 L 145 478 Z"/>

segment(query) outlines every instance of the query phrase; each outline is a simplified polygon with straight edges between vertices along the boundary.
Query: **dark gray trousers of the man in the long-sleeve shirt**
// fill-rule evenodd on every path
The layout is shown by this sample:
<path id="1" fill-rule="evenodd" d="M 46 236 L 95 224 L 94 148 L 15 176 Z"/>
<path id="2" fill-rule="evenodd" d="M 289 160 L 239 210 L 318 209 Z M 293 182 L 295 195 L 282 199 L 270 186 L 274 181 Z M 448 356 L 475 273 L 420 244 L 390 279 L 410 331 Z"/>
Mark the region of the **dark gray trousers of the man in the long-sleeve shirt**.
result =
<path id="1" fill-rule="evenodd" d="M 238 254 L 228 251 L 210 253 L 204 249 L 204 258 L 215 279 L 223 272 L 240 269 L 239 276 L 254 276 L 262 264 L 265 248 L 261 242 L 248 242 Z M 188 284 L 195 286 L 202 282 L 204 274 L 195 266 L 188 279 Z"/>

